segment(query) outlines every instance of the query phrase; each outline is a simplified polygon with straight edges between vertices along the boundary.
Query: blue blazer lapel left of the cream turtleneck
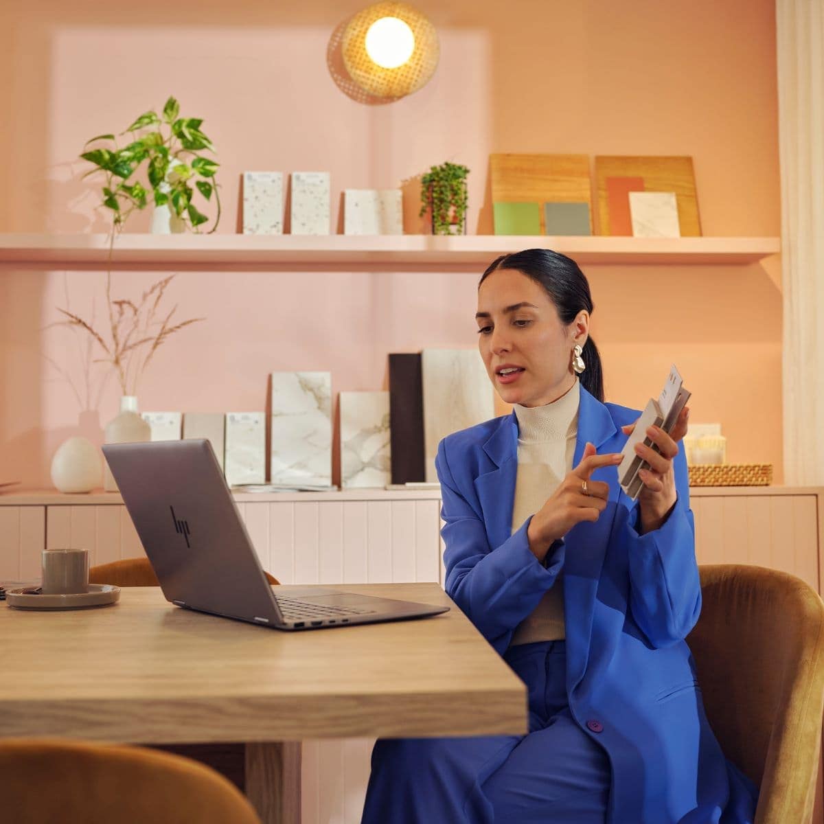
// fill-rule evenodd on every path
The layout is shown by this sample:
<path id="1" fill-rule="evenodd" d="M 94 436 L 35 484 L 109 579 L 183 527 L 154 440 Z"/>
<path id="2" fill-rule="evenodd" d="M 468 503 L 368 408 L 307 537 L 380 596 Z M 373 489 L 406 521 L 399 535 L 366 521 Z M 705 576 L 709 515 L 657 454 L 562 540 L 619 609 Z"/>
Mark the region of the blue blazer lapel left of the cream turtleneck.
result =
<path id="1" fill-rule="evenodd" d="M 514 412 L 500 420 L 499 427 L 483 448 L 496 468 L 475 478 L 475 491 L 484 513 L 489 546 L 495 549 L 512 535 L 517 475 L 517 419 Z"/>

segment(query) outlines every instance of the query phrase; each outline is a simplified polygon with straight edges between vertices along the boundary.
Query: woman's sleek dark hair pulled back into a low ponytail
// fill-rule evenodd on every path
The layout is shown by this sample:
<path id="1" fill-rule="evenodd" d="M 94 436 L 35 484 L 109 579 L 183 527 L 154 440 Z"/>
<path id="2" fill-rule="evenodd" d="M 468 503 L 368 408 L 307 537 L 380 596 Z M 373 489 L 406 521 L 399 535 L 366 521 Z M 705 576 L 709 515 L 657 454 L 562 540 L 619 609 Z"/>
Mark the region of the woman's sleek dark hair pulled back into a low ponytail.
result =
<path id="1" fill-rule="evenodd" d="M 512 255 L 501 255 L 489 265 L 478 282 L 484 283 L 496 269 L 515 269 L 540 284 L 555 304 L 561 323 L 569 325 L 578 312 L 586 309 L 592 314 L 592 295 L 589 282 L 572 258 L 550 249 L 525 249 Z M 581 355 L 586 369 L 578 377 L 590 395 L 604 400 L 604 376 L 601 355 L 592 337 L 587 338 Z"/>

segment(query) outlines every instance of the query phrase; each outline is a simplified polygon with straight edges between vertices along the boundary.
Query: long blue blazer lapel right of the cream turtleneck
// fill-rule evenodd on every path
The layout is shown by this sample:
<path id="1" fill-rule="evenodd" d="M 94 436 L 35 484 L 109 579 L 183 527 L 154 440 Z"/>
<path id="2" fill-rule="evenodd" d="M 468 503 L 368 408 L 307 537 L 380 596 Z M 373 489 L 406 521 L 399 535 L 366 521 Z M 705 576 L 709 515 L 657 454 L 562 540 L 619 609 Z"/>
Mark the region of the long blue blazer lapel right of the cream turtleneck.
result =
<path id="1" fill-rule="evenodd" d="M 599 454 L 615 449 L 616 446 L 611 441 L 618 433 L 619 429 L 606 406 L 582 386 L 573 466 L 578 466 L 581 462 L 587 442 L 594 444 Z M 586 671 L 598 581 L 620 494 L 618 470 L 615 466 L 593 472 L 592 480 L 606 481 L 610 485 L 609 503 L 597 522 L 579 523 L 564 539 L 564 623 L 569 692 L 574 690 Z"/>

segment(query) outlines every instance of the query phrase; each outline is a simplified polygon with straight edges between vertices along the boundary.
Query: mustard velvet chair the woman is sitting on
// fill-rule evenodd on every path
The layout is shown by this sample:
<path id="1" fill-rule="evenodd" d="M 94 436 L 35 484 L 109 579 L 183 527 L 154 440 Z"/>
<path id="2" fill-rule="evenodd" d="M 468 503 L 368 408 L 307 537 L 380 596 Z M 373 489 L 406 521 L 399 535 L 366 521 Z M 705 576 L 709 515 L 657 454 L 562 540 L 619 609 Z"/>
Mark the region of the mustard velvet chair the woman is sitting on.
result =
<path id="1" fill-rule="evenodd" d="M 724 754 L 761 788 L 756 824 L 812 812 L 824 711 L 824 604 L 775 569 L 700 567 L 703 606 L 687 638 Z"/>

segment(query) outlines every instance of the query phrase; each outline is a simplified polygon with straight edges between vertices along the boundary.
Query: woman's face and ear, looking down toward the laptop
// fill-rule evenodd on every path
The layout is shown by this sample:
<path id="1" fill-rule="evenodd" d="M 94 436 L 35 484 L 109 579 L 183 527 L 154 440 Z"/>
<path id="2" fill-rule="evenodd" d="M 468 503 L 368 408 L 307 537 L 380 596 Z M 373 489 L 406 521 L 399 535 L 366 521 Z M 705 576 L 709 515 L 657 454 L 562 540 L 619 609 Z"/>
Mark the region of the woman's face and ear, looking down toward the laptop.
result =
<path id="1" fill-rule="evenodd" d="M 564 325 L 539 283 L 515 269 L 496 269 L 480 284 L 475 318 L 489 380 L 507 403 L 542 406 L 573 386 L 572 352 L 587 341 L 586 310 Z"/>

